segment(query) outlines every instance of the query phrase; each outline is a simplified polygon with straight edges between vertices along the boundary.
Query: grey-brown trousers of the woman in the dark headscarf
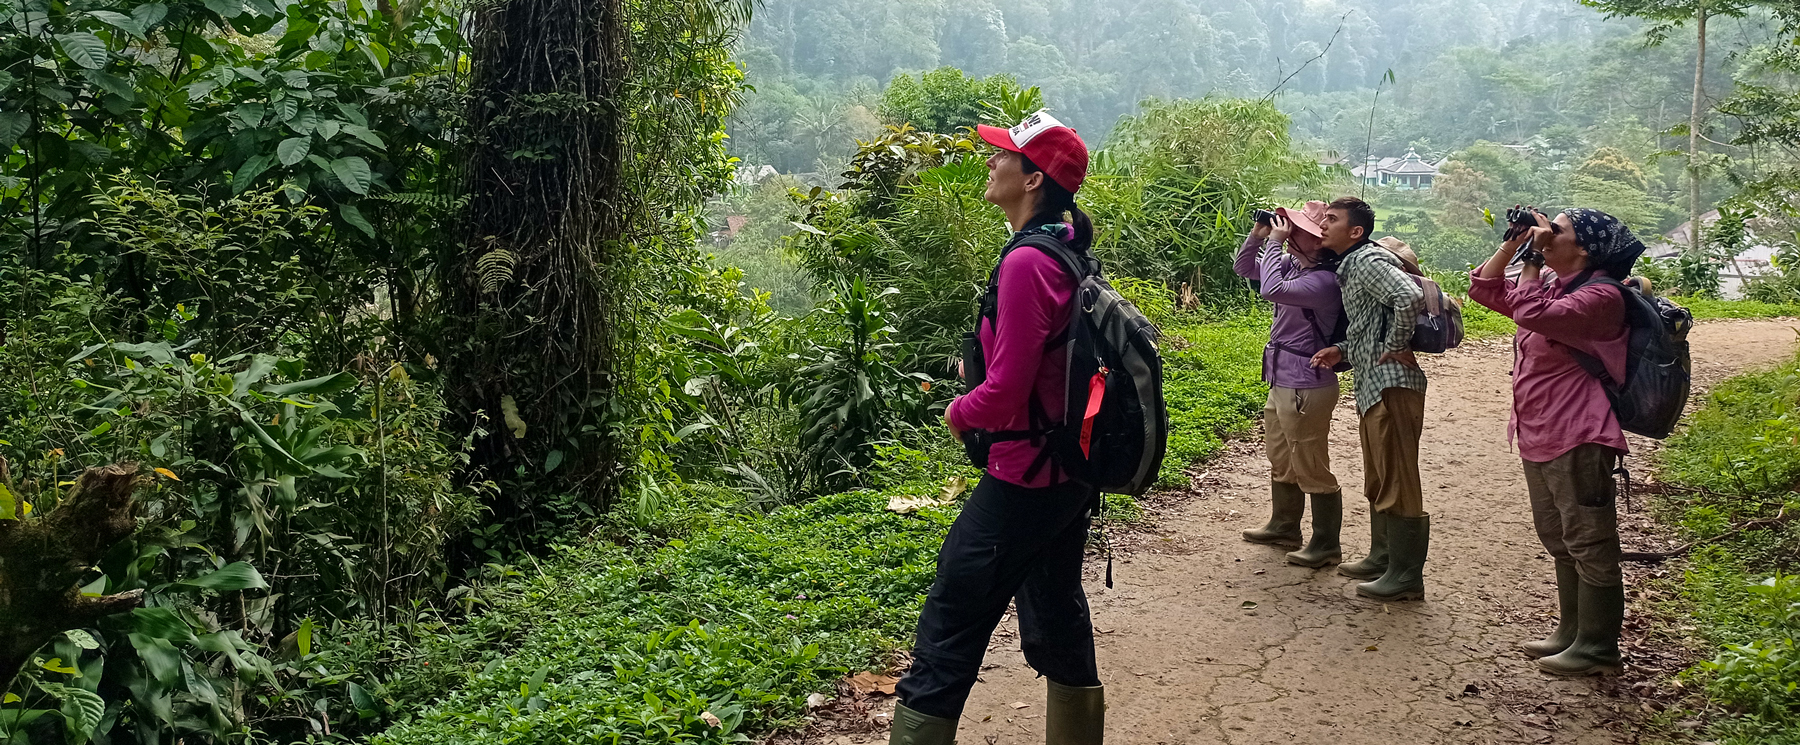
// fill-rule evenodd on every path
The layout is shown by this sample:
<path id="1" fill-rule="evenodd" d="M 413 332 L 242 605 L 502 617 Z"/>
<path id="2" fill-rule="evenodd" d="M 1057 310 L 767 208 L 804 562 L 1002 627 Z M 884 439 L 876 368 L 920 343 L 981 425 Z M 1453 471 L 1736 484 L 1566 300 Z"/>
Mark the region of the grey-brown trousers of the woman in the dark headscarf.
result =
<path id="1" fill-rule="evenodd" d="M 1618 570 L 1615 461 L 1618 450 L 1595 443 L 1579 444 L 1550 462 L 1525 461 L 1537 540 L 1557 561 L 1573 561 L 1580 581 L 1595 587 L 1625 583 Z"/>

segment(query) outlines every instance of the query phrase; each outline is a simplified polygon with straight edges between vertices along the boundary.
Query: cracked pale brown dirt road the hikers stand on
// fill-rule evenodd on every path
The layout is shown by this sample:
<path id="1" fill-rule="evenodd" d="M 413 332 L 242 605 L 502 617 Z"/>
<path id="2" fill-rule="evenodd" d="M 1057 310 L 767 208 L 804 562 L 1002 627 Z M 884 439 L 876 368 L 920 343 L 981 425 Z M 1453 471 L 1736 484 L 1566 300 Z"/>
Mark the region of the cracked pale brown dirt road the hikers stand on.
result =
<path id="1" fill-rule="evenodd" d="M 1793 326 L 1699 326 L 1697 385 L 1786 358 Z M 1157 527 L 1130 540 L 1114 588 L 1098 578 L 1103 561 L 1089 561 L 1107 741 L 1631 741 L 1638 704 L 1629 693 L 1548 678 L 1516 651 L 1555 624 L 1555 588 L 1507 446 L 1510 355 L 1510 340 L 1489 340 L 1424 362 L 1422 471 L 1433 515 L 1424 603 L 1357 599 L 1352 579 L 1334 570 L 1289 567 L 1280 549 L 1244 543 L 1238 529 L 1269 509 L 1256 443 L 1235 444 L 1172 497 Z M 1633 441 L 1638 479 L 1649 475 L 1645 446 Z M 1368 547 L 1368 507 L 1348 398 L 1332 462 L 1345 484 L 1345 556 L 1355 560 Z M 1008 617 L 963 714 L 961 743 L 1044 741 L 1044 682 L 1017 650 Z"/>

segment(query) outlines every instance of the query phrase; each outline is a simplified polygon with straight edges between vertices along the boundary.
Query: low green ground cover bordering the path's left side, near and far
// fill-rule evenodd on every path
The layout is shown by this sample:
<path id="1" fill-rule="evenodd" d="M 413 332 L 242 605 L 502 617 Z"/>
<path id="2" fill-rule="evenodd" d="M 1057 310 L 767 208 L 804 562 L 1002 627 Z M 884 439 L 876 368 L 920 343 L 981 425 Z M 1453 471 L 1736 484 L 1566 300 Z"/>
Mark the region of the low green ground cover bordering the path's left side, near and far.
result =
<path id="1" fill-rule="evenodd" d="M 1172 324 L 1165 480 L 1255 423 L 1267 328 L 1265 313 Z M 689 515 L 662 540 L 569 547 L 482 590 L 477 614 L 418 651 L 427 687 L 448 693 L 376 740 L 731 743 L 799 723 L 808 695 L 884 666 L 918 621 L 958 506 L 895 515 L 887 498 L 974 475 L 941 428 L 898 439 L 880 452 L 880 489 L 769 515 Z M 1111 520 L 1138 515 L 1129 497 L 1109 497 Z"/>

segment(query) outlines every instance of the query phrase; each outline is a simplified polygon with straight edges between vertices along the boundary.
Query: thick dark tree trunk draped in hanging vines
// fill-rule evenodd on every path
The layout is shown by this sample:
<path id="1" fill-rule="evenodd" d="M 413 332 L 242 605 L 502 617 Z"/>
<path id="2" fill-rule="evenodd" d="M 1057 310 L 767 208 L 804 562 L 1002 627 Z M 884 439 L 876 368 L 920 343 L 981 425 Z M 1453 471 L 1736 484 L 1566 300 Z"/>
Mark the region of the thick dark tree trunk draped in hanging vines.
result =
<path id="1" fill-rule="evenodd" d="M 526 493 L 605 509 L 623 473 L 608 412 L 632 362 L 625 5 L 481 4 L 470 32 L 468 207 L 443 275 L 452 392 L 491 419 L 475 466 L 549 480 L 502 489 L 497 516 L 531 513 Z"/>

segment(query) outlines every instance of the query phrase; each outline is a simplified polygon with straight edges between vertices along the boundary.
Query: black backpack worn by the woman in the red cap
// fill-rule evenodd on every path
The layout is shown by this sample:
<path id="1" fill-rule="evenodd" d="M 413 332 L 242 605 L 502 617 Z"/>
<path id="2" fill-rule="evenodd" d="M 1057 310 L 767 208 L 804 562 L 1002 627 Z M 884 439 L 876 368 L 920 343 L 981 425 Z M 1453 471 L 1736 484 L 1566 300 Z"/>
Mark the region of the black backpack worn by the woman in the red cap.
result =
<path id="1" fill-rule="evenodd" d="M 1100 261 L 1076 254 L 1055 236 L 1033 232 L 1013 239 L 1001 261 L 1019 247 L 1031 247 L 1055 259 L 1075 277 L 1075 301 L 1067 329 L 1046 342 L 1062 349 L 1064 416 L 1053 421 L 1037 394 L 1030 403 L 1030 430 L 968 432 L 963 435 L 970 461 L 986 468 L 992 443 L 1026 439 L 1044 444 L 1026 470 L 1035 479 L 1042 468 L 1062 470 L 1100 491 L 1143 495 L 1163 468 L 1168 446 L 1168 407 L 1163 403 L 1163 358 L 1157 329 L 1138 308 L 1100 275 Z M 981 295 L 981 319 L 999 328 L 999 263 Z M 986 380 L 986 360 L 974 333 L 963 335 L 963 376 L 968 389 Z"/>

